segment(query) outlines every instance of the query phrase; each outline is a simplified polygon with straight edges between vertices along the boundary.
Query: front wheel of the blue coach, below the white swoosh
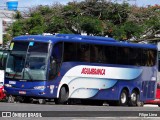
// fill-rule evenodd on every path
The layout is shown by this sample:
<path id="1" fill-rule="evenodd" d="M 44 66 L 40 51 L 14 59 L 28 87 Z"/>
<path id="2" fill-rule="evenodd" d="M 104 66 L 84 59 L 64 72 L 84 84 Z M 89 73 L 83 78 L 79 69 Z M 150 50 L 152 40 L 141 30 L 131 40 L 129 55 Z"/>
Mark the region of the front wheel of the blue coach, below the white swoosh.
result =
<path id="1" fill-rule="evenodd" d="M 66 104 L 68 101 L 69 92 L 66 87 L 61 87 L 59 98 L 55 99 L 55 104 Z"/>

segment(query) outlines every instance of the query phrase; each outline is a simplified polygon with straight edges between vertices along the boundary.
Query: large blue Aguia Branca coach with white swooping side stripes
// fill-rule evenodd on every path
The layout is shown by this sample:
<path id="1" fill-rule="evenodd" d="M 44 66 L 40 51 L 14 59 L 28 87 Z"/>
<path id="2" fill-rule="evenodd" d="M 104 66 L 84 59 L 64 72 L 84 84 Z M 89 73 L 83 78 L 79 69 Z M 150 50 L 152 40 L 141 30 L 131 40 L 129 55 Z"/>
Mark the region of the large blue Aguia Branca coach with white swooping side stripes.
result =
<path id="1" fill-rule="evenodd" d="M 20 97 L 139 106 L 155 99 L 155 45 L 57 34 L 18 36 L 9 49 L 4 87 L 12 102 Z"/>

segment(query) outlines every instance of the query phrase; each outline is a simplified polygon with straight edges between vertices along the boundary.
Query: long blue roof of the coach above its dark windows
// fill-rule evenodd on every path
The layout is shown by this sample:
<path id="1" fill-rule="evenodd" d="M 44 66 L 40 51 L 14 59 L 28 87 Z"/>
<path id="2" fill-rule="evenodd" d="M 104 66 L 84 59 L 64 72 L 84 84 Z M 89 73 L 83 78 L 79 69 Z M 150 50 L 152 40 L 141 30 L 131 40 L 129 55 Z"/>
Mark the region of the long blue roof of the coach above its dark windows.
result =
<path id="1" fill-rule="evenodd" d="M 100 37 L 100 36 L 83 36 L 77 34 L 57 34 L 57 35 L 24 35 L 13 38 L 13 41 L 40 41 L 40 42 L 53 42 L 66 41 L 66 42 L 83 42 L 92 44 L 104 44 L 111 46 L 122 46 L 122 47 L 137 47 L 137 48 L 150 48 L 157 49 L 156 45 L 153 44 L 142 44 L 142 43 L 129 43 L 129 42 L 119 42 L 110 37 Z"/>

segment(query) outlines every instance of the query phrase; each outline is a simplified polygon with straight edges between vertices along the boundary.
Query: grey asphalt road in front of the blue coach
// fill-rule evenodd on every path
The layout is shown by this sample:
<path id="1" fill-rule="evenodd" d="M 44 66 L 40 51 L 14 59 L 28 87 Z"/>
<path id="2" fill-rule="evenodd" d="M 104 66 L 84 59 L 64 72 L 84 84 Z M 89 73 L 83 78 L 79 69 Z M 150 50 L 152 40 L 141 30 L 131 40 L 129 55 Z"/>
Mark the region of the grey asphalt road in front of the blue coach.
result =
<path id="1" fill-rule="evenodd" d="M 10 114 L 12 118 L 8 117 L 8 114 Z M 44 105 L 0 102 L 0 120 L 19 120 L 22 118 L 23 120 L 158 120 L 160 119 L 160 107 L 157 105 L 121 107 L 107 105 L 55 105 L 52 102 Z"/>

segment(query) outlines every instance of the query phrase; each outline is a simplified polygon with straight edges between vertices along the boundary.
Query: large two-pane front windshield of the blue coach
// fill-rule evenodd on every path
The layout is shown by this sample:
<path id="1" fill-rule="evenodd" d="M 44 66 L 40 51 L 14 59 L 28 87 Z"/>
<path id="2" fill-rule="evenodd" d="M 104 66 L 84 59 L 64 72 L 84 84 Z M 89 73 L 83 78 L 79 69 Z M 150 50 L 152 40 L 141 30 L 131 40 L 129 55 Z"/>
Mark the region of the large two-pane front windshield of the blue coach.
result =
<path id="1" fill-rule="evenodd" d="M 46 80 L 48 43 L 14 42 L 6 66 L 6 78 Z"/>

